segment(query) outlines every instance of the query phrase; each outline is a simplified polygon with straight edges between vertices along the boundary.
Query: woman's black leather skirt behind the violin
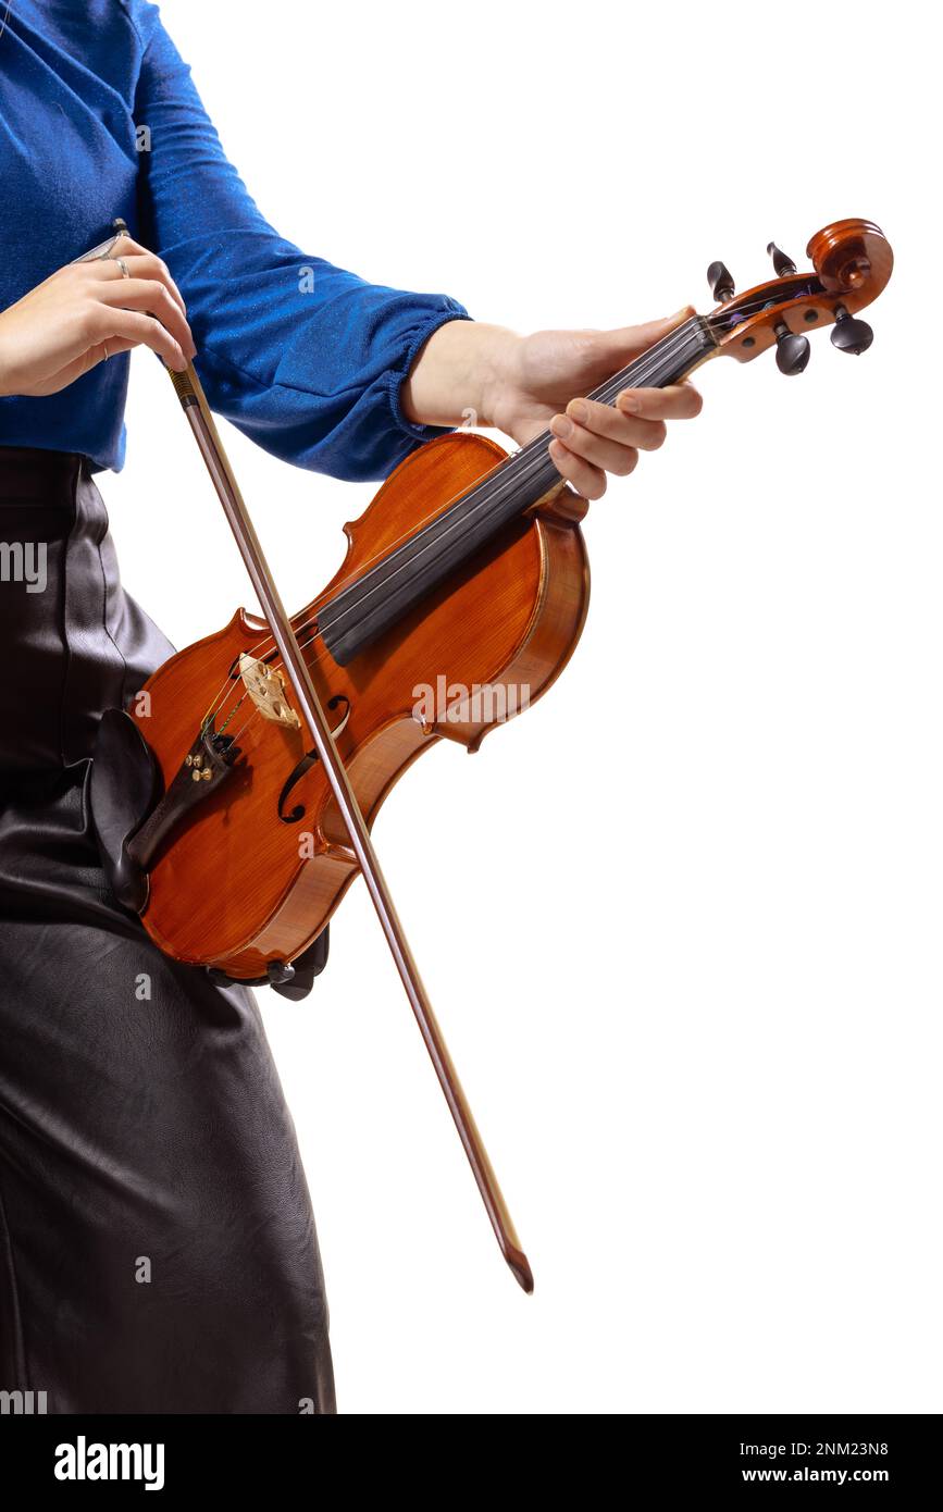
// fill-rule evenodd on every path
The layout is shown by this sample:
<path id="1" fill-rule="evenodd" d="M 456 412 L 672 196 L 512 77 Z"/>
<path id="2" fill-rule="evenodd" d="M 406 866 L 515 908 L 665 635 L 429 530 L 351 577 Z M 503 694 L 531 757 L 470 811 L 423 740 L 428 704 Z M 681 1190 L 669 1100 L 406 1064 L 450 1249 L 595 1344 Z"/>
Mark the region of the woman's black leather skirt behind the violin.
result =
<path id="1" fill-rule="evenodd" d="M 101 712 L 171 653 L 79 457 L 0 449 L 0 1391 L 334 1412 L 292 1119 L 243 989 L 168 960 L 88 813 Z"/>

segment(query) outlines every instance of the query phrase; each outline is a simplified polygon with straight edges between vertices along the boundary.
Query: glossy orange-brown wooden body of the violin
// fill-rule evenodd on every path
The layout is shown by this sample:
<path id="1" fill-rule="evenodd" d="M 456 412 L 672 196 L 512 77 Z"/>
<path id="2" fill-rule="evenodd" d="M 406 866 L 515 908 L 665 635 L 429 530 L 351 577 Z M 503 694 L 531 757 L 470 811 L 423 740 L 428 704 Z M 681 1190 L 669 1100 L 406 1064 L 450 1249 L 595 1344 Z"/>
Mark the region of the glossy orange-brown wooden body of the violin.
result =
<path id="1" fill-rule="evenodd" d="M 345 526 L 348 553 L 339 573 L 293 620 L 369 824 L 429 745 L 449 738 L 475 751 L 497 723 L 533 703 L 567 664 L 583 627 L 585 505 L 556 490 L 349 665 L 339 665 L 319 635 L 302 638 L 301 627 L 316 620 L 319 603 L 339 584 L 444 511 L 506 455 L 468 431 L 413 452 L 366 513 Z M 147 697 L 134 700 L 131 717 L 165 791 L 219 685 L 231 685 L 221 703 L 227 717 L 245 694 L 239 656 L 258 656 L 266 629 L 237 611 L 219 634 L 165 662 L 145 683 Z M 269 963 L 292 962 L 317 937 L 358 865 L 322 764 L 311 761 L 299 771 L 310 747 L 304 726 L 263 718 L 243 700 L 230 727 L 240 730 L 240 759 L 227 783 L 159 848 L 142 922 L 177 960 L 252 980 Z"/>

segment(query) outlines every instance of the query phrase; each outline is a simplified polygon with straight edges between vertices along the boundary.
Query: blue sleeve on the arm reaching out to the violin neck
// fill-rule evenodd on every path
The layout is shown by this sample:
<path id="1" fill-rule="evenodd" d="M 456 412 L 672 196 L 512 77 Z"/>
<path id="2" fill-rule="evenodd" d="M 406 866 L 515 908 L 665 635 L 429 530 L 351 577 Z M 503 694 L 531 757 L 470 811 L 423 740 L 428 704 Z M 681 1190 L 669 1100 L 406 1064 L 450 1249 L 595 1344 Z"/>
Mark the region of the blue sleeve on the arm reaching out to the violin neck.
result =
<path id="1" fill-rule="evenodd" d="M 416 352 L 465 316 L 447 295 L 367 284 L 277 236 L 227 162 L 157 8 L 134 101 L 148 245 L 184 293 L 215 410 L 267 451 L 342 478 L 379 478 L 437 434 L 399 389 Z"/>

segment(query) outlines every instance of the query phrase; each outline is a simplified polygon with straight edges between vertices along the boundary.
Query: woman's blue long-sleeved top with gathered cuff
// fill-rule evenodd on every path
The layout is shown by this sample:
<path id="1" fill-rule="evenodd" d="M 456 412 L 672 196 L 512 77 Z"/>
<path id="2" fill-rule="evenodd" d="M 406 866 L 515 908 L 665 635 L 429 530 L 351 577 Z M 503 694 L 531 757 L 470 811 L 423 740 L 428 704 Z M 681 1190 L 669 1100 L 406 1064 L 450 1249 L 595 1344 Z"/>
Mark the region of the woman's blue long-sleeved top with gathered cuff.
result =
<path id="1" fill-rule="evenodd" d="M 0 0 L 0 21 L 6 0 Z M 141 150 L 139 150 L 141 148 Z M 286 461 L 382 478 L 417 442 L 399 390 L 422 343 L 468 318 L 364 283 L 278 236 L 145 0 L 12 0 L 0 36 L 0 308 L 107 237 L 168 263 L 213 410 Z M 128 357 L 44 399 L 0 399 L 0 446 L 124 463 Z"/>

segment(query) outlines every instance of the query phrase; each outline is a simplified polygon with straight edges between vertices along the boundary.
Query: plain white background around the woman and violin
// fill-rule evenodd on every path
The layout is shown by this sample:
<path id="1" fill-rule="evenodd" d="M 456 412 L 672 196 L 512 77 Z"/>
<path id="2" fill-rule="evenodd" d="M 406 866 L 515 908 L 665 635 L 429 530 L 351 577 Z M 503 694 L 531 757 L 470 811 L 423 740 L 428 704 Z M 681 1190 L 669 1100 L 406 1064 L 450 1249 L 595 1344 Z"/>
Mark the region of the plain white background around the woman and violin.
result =
<path id="1" fill-rule="evenodd" d="M 345 1412 L 943 1409 L 938 80 L 916 5 L 165 0 L 278 230 L 517 330 L 710 308 L 846 215 L 896 253 L 861 358 L 698 375 L 586 522 L 550 696 L 376 824 L 536 1276 L 505 1270 L 366 894 L 263 993 Z M 251 603 L 166 380 L 103 478 L 177 644 Z M 227 428 L 286 599 L 372 485 Z"/>

